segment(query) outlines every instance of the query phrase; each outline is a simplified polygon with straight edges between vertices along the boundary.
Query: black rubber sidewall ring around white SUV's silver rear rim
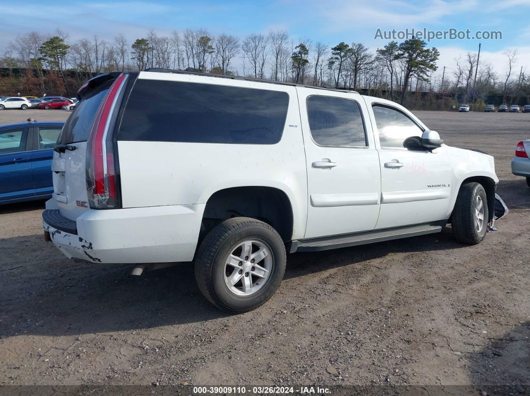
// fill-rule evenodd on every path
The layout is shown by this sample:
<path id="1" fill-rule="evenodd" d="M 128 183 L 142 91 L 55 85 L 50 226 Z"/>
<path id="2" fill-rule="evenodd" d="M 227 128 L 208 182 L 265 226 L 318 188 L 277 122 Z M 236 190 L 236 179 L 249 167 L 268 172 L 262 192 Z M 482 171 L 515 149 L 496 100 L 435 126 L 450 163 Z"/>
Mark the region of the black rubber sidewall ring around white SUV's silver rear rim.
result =
<path id="1" fill-rule="evenodd" d="M 269 248 L 272 268 L 269 278 L 259 291 L 250 296 L 238 296 L 228 289 L 224 280 L 225 260 L 234 246 L 244 240 L 258 240 Z M 267 301 L 278 288 L 285 272 L 285 247 L 278 236 L 267 228 L 249 226 L 232 233 L 219 246 L 211 265 L 213 292 L 223 306 L 231 310 L 246 311 Z"/>

